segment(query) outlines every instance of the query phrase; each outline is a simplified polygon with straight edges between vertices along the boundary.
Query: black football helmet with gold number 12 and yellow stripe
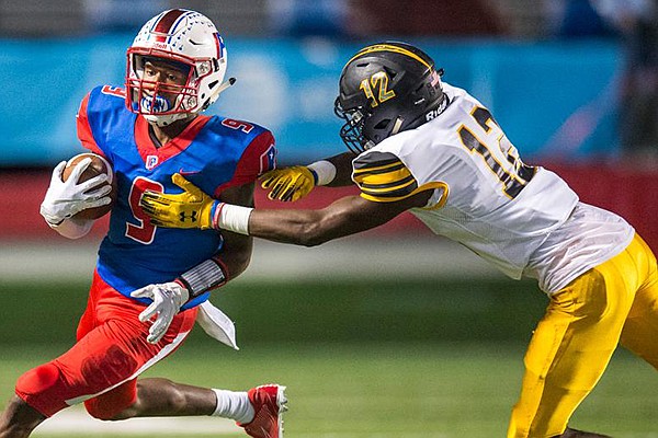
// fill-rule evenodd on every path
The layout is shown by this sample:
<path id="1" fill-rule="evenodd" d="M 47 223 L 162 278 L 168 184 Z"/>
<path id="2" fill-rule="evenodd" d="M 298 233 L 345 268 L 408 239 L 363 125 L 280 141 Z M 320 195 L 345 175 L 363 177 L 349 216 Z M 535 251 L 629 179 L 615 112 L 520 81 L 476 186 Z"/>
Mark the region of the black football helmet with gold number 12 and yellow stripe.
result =
<path id="1" fill-rule="evenodd" d="M 340 137 L 354 153 L 416 128 L 445 101 L 443 70 L 409 44 L 384 42 L 359 50 L 340 76 L 334 113 L 345 120 Z"/>

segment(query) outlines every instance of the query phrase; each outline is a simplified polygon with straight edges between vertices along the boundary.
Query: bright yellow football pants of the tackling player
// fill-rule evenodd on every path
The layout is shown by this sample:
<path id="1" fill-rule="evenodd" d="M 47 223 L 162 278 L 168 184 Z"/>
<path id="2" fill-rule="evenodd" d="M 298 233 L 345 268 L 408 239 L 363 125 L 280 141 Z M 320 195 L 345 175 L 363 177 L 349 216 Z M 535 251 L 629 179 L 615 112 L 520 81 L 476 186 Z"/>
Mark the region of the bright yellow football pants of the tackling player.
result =
<path id="1" fill-rule="evenodd" d="M 508 438 L 559 436 L 617 344 L 658 369 L 656 257 L 636 234 L 621 254 L 551 297 L 525 354 Z"/>

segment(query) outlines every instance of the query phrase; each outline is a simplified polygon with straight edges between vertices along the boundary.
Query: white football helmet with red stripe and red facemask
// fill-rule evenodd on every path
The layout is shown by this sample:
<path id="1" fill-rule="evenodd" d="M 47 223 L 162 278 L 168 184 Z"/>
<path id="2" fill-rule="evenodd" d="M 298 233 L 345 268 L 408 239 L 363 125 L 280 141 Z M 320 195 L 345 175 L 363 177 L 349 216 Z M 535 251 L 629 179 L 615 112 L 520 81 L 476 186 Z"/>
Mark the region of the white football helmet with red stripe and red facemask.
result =
<path id="1" fill-rule="evenodd" d="M 207 108 L 235 79 L 223 84 L 226 46 L 205 15 L 171 9 L 150 19 L 127 50 L 126 105 L 158 126 Z M 158 58 L 188 72 L 184 85 L 144 79 L 144 64 Z M 169 96 L 169 97 L 166 97 Z"/>

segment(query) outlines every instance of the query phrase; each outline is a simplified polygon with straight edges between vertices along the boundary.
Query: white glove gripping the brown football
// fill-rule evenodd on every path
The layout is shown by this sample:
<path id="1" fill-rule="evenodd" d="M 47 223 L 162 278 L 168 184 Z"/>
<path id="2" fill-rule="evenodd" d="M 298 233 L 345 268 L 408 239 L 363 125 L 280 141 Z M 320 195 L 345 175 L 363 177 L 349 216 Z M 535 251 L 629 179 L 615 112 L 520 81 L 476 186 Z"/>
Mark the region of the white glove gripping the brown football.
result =
<path id="1" fill-rule="evenodd" d="M 107 181 L 107 175 L 100 174 L 78 184 L 80 175 L 87 170 L 90 163 L 90 158 L 81 160 L 71 171 L 66 182 L 61 181 L 66 161 L 57 164 L 53 171 L 53 176 L 50 176 L 50 186 L 46 192 L 39 210 L 46 222 L 58 224 L 84 209 L 101 207 L 112 203 L 110 196 L 106 196 L 112 192 L 112 187 L 110 184 L 103 184 Z M 101 186 L 94 191 L 90 191 L 90 188 L 98 185 Z"/>

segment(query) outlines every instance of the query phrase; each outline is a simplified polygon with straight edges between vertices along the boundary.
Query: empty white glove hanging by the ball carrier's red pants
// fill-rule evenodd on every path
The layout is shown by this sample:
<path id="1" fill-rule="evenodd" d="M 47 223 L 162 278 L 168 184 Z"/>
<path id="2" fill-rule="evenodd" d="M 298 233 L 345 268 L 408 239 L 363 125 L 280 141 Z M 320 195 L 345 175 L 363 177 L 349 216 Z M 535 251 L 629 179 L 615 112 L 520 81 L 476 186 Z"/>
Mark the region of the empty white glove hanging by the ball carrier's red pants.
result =
<path id="1" fill-rule="evenodd" d="M 148 330 L 146 341 L 151 344 L 160 342 L 173 316 L 181 310 L 181 306 L 188 302 L 190 292 L 181 284 L 175 281 L 161 285 L 148 285 L 131 293 L 133 298 L 150 298 L 154 302 L 139 313 L 139 321 L 149 321 L 157 314 L 156 321 Z"/>

